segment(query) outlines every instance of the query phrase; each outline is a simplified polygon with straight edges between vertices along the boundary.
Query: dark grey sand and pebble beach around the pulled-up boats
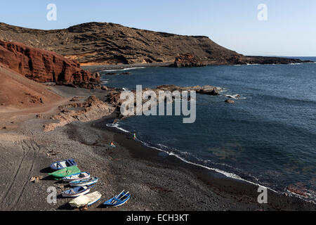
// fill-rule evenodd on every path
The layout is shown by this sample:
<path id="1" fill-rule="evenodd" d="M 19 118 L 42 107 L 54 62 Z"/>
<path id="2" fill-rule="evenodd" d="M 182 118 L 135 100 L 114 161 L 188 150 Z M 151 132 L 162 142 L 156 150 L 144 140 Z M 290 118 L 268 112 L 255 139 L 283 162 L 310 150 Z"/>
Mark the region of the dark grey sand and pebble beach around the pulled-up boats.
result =
<path id="1" fill-rule="evenodd" d="M 52 89 L 68 99 L 91 94 L 103 99 L 106 94 L 65 86 Z M 67 204 L 70 199 L 59 195 L 67 186 L 47 175 L 51 162 L 63 158 L 74 158 L 81 171 L 100 177 L 93 191 L 102 193 L 102 199 L 88 210 L 316 210 L 315 204 L 273 191 L 268 191 L 267 204 L 259 204 L 258 186 L 147 148 L 131 134 L 106 127 L 111 117 L 44 132 L 43 124 L 51 122 L 55 110 L 43 112 L 41 118 L 30 113 L 1 120 L 1 127 L 7 126 L 0 130 L 1 210 L 74 210 Z M 109 146 L 111 141 L 117 148 Z M 39 175 L 44 179 L 29 181 Z M 47 203 L 49 186 L 57 188 L 57 204 Z M 122 190 L 131 193 L 128 203 L 102 207 Z"/>

